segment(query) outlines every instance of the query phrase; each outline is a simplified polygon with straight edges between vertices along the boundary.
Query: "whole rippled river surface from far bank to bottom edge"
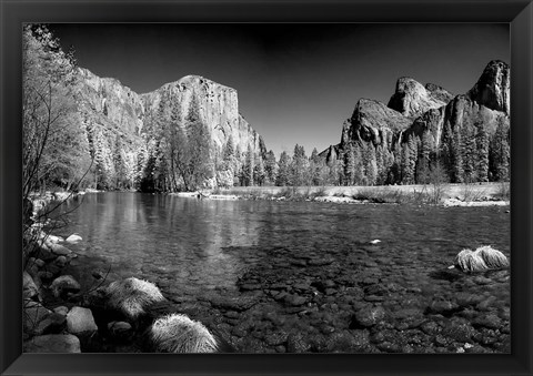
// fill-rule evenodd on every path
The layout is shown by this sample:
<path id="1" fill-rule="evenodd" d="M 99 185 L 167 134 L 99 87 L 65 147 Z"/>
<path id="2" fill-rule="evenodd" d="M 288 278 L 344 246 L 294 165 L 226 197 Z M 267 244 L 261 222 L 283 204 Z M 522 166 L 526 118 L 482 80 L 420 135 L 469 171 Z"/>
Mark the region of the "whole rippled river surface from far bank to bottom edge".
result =
<path id="1" fill-rule="evenodd" d="M 442 321 L 472 322 L 494 313 L 509 327 L 507 272 L 465 275 L 447 270 L 465 247 L 490 244 L 510 255 L 509 206 L 442 209 L 99 193 L 72 200 L 63 210 L 76 205 L 80 207 L 67 214 L 69 225 L 61 232 L 83 237 L 73 250 L 93 260 L 87 273 L 91 267 L 111 267 L 115 277 L 153 281 L 184 312 L 217 326 L 242 350 L 290 350 L 295 346 L 292 339 L 274 341 L 272 334 L 290 335 L 298 328 L 320 342 L 316 337 L 344 333 L 350 325 L 361 332 L 358 335 L 370 335 L 362 339 L 362 350 L 388 350 L 383 343 L 394 341 L 374 341 L 375 328 L 354 329 L 350 324 L 353 313 L 365 305 L 388 311 L 390 325 L 380 327 L 380 333 L 420 332 L 420 346 L 405 341 L 392 348 L 402 352 L 420 352 L 428 347 L 425 341 L 452 350 L 459 341 L 440 344 L 434 334 L 419 331 L 422 324 L 410 324 L 413 317 L 420 316 L 421 323 L 434 319 L 445 328 Z M 371 245 L 372 240 L 381 243 Z M 459 293 L 489 299 L 490 307 L 480 308 L 481 301 L 457 306 Z M 220 302 L 241 297 L 253 303 Z M 453 309 L 433 309 L 441 301 L 451 302 Z M 474 313 L 469 316 L 470 311 Z M 482 336 L 485 329 L 481 325 L 476 333 Z M 472 342 L 490 350 L 504 346 L 500 332 L 492 344 L 485 344 L 489 334 Z"/>

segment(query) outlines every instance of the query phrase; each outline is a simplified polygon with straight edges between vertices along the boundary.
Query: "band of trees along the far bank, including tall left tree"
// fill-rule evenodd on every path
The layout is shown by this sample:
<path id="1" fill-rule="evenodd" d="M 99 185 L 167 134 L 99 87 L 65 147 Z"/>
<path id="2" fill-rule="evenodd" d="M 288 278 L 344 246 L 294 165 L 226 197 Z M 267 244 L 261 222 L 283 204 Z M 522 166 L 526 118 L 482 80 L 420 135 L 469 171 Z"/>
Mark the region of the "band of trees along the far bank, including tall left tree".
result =
<path id="1" fill-rule="evenodd" d="M 101 125 L 79 100 L 73 52 L 42 26 L 23 30 L 24 194 L 67 190 L 194 191 L 250 185 L 380 185 L 507 181 L 509 124 L 487 134 L 480 122 L 444 129 L 439 150 L 429 132 L 404 135 L 392 146 L 352 141 L 334 157 L 252 152 L 228 138 L 217 146 L 193 96 L 185 116 L 179 105 L 148 113 L 141 141 Z M 169 103 L 169 100 L 161 103 Z M 171 102 L 171 100 L 170 100 Z M 105 111 L 105 108 L 103 109 Z"/>

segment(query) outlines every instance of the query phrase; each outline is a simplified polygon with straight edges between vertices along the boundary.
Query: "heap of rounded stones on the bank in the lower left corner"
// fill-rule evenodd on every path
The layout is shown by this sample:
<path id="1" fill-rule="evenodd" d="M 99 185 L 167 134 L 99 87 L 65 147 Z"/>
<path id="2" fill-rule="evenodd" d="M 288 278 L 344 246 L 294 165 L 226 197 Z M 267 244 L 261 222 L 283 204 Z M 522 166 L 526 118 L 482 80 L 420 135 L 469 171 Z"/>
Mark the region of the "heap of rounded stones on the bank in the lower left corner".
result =
<path id="1" fill-rule="evenodd" d="M 63 270 L 78 255 L 67 247 L 81 241 L 48 235 L 40 226 L 24 232 L 23 349 L 28 353 L 80 353 L 81 341 L 98 329 L 82 307 L 81 285 Z"/>

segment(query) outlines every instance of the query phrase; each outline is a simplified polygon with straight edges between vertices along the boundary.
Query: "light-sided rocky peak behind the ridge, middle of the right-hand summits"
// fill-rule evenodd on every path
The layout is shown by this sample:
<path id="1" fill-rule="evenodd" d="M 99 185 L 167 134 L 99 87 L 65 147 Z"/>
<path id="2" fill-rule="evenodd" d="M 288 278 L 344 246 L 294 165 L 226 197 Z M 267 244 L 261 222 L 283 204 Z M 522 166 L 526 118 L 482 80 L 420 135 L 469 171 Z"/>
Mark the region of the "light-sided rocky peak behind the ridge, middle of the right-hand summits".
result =
<path id="1" fill-rule="evenodd" d="M 439 109 L 451 100 L 451 94 L 435 85 L 424 88 L 411 78 L 400 78 L 396 90 L 389 101 L 389 108 L 408 118 L 418 118 L 431 109 Z"/>

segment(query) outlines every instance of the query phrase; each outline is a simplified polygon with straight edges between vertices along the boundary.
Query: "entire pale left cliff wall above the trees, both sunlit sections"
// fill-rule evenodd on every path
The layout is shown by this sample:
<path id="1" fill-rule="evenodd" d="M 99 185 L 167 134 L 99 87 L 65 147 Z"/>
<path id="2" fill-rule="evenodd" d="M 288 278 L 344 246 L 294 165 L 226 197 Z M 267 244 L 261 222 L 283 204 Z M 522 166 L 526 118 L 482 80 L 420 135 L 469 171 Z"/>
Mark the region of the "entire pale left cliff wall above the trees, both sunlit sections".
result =
<path id="1" fill-rule="evenodd" d="M 263 155 L 265 146 L 259 134 L 239 113 L 237 90 L 198 75 L 187 75 L 167 83 L 158 90 L 138 94 L 115 79 L 100 78 L 87 69 L 80 69 L 79 98 L 82 111 L 95 125 L 107 133 L 124 136 L 130 149 L 138 148 L 145 132 L 150 114 L 157 113 L 163 101 L 164 112 L 170 118 L 173 105 L 180 105 L 182 120 L 187 116 L 192 95 L 197 95 L 200 114 L 208 125 L 212 140 L 222 148 L 229 136 L 235 150 L 252 151 Z"/>

